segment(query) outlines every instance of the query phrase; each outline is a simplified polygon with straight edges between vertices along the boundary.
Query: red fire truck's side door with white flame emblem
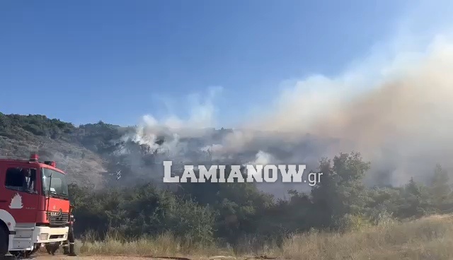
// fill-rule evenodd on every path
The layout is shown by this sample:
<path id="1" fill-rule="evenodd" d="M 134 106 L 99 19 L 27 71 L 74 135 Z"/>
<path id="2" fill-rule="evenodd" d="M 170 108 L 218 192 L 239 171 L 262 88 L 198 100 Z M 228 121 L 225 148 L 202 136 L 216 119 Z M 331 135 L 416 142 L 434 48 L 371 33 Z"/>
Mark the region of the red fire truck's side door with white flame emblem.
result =
<path id="1" fill-rule="evenodd" d="M 0 208 L 13 215 L 16 223 L 35 223 L 38 208 L 38 169 L 30 165 L 6 164 L 0 168 Z"/>

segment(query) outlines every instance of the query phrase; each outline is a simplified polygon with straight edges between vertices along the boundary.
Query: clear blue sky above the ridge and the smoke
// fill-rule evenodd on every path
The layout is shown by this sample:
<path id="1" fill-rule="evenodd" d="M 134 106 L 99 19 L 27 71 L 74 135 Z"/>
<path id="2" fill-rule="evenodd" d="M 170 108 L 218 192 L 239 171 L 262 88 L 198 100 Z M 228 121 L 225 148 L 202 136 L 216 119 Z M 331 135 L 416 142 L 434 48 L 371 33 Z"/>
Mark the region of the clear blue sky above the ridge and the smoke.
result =
<path id="1" fill-rule="evenodd" d="M 340 73 L 409 1 L 0 1 L 0 112 L 74 124 L 186 117 L 223 88 L 228 126 L 282 82 Z"/>

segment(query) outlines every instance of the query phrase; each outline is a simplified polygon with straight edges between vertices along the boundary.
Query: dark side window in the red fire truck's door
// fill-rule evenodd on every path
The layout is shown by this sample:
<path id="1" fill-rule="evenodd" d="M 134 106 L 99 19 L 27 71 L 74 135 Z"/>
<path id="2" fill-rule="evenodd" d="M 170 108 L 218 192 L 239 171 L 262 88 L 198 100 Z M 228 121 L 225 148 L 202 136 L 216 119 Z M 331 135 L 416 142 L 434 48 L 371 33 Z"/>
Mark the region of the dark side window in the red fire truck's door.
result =
<path id="1" fill-rule="evenodd" d="M 11 167 L 6 170 L 5 187 L 16 191 L 37 193 L 36 169 Z"/>

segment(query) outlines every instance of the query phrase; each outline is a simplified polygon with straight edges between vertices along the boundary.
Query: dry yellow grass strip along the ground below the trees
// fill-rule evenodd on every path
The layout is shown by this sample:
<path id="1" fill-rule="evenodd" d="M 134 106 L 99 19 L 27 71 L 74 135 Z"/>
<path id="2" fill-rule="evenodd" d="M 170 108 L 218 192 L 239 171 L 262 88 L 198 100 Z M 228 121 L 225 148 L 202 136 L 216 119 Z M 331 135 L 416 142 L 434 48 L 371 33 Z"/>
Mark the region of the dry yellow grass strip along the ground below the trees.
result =
<path id="1" fill-rule="evenodd" d="M 108 237 L 102 242 L 79 243 L 82 254 L 152 256 L 240 256 L 234 249 L 212 245 L 183 244 L 171 235 L 125 242 Z M 406 223 L 386 223 L 343 235 L 311 232 L 294 235 L 282 247 L 264 247 L 261 252 L 281 259 L 453 259 L 453 216 L 435 215 Z"/>

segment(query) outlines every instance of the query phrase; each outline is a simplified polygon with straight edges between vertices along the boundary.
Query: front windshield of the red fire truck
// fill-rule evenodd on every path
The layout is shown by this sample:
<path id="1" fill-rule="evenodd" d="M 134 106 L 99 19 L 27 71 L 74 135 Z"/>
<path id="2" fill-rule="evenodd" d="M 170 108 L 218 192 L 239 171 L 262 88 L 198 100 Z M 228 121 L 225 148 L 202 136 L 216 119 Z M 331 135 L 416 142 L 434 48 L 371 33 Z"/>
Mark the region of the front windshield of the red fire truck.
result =
<path id="1" fill-rule="evenodd" d="M 42 169 L 42 189 L 44 194 L 47 196 L 50 191 L 50 196 L 59 199 L 68 199 L 68 183 L 66 175 L 47 168 L 41 169 Z M 51 175 L 52 180 L 50 178 Z"/>

